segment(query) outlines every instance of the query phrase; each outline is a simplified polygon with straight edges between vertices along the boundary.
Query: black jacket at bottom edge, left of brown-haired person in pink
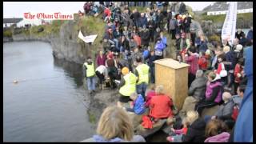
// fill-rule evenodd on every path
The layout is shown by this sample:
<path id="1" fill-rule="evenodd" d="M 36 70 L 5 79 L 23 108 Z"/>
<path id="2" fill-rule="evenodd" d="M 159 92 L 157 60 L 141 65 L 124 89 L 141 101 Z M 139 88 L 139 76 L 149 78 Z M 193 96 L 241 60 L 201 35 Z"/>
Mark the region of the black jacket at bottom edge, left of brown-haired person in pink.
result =
<path id="1" fill-rule="evenodd" d="M 182 142 L 204 142 L 205 138 L 206 122 L 198 118 L 190 126 L 188 126 L 187 132 L 182 136 Z"/>

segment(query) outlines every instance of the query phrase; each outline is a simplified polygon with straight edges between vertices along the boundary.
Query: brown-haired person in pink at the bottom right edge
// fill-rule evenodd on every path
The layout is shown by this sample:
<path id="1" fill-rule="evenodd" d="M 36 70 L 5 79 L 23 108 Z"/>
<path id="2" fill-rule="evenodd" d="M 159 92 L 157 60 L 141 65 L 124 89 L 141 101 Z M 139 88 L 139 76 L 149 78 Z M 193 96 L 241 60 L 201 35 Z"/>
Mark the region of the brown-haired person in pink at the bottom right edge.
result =
<path id="1" fill-rule="evenodd" d="M 206 125 L 205 142 L 228 142 L 230 134 L 227 133 L 225 122 L 218 119 L 212 119 Z"/>

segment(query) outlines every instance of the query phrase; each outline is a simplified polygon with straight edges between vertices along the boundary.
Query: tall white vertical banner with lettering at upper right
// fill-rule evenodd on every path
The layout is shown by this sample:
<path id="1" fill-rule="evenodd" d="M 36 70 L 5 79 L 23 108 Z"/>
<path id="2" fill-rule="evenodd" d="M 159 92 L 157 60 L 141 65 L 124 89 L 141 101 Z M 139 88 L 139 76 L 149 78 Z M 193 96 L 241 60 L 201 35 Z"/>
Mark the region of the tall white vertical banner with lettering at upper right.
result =
<path id="1" fill-rule="evenodd" d="M 222 42 L 223 39 L 227 38 L 232 46 L 235 38 L 238 2 L 229 2 L 229 4 L 230 6 L 226 12 L 226 19 L 222 27 Z"/>

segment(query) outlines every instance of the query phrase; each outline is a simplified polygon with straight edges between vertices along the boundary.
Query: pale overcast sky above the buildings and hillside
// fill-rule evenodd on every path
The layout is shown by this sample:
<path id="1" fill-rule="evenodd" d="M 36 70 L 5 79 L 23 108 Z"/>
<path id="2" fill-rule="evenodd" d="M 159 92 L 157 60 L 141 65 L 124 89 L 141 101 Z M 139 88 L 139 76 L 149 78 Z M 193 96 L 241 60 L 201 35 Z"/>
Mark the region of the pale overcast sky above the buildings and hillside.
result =
<path id="1" fill-rule="evenodd" d="M 185 2 L 193 10 L 202 10 L 213 2 Z M 3 18 L 23 18 L 26 12 L 62 14 L 77 13 L 82 10 L 84 2 L 3 2 Z"/>

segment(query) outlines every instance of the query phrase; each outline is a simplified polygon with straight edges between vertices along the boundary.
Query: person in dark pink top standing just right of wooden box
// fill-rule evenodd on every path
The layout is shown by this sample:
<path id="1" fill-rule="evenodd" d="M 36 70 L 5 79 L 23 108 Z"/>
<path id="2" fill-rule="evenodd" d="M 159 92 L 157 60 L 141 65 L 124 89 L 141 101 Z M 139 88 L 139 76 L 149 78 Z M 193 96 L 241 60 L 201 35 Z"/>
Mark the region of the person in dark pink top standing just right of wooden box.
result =
<path id="1" fill-rule="evenodd" d="M 185 61 L 190 65 L 189 67 L 189 81 L 188 86 L 190 87 L 191 83 L 194 81 L 195 74 L 198 70 L 198 56 L 195 54 L 195 48 L 190 47 L 188 50 L 190 56 L 185 56 Z"/>

